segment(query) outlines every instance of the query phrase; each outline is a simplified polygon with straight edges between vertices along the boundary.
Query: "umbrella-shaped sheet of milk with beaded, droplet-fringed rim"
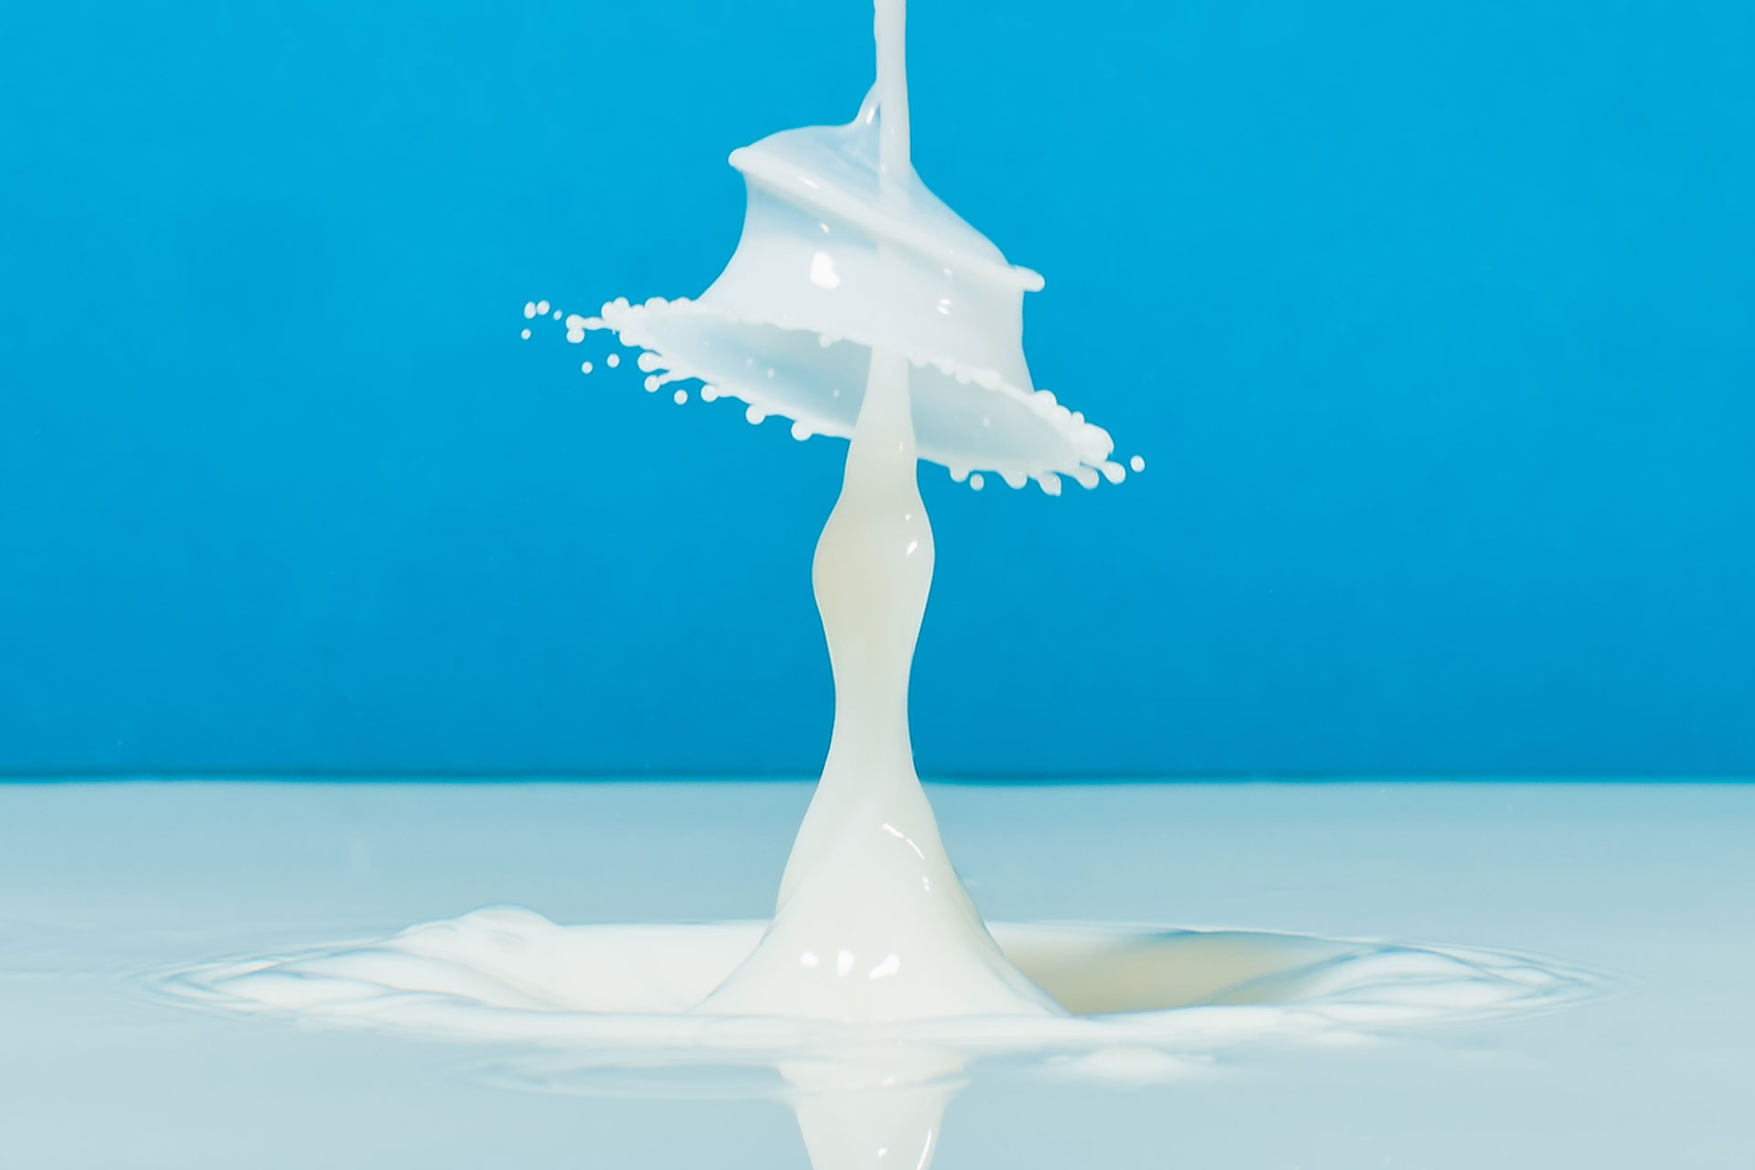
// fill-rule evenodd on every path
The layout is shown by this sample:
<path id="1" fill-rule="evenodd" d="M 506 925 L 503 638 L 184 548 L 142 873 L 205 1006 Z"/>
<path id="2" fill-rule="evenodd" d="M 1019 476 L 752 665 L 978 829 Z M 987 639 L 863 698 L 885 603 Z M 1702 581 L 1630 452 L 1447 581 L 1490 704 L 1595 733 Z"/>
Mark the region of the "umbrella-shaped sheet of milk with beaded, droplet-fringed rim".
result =
<path id="1" fill-rule="evenodd" d="M 793 419 L 799 439 L 849 437 L 874 347 L 911 361 L 920 456 L 963 479 L 999 472 L 1058 491 L 1121 468 L 1100 426 L 1035 389 L 1023 358 L 1014 267 L 914 175 L 883 167 L 876 91 L 844 126 L 784 130 L 732 153 L 749 203 L 737 253 L 695 300 L 616 300 L 591 328 L 635 346 L 658 386 L 700 379 L 704 398 Z"/>

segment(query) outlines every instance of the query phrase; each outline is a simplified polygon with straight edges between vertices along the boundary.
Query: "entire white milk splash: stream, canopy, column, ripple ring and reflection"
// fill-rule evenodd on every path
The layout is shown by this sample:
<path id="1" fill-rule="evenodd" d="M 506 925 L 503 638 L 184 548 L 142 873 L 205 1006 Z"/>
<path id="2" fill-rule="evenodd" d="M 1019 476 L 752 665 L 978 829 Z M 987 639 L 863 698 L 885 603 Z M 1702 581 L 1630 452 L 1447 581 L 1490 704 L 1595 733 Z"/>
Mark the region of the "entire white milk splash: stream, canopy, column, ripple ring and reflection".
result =
<path id="1" fill-rule="evenodd" d="M 797 439 L 849 439 L 813 563 L 834 731 L 772 921 L 556 926 L 479 910 L 379 942 L 200 965 L 167 986 L 246 1012 L 519 1044 L 526 1054 L 498 1075 L 521 1088 L 591 1091 L 598 1070 L 623 1065 L 777 1070 L 818 1170 L 925 1170 L 944 1103 L 986 1056 L 1153 1079 L 1269 1038 L 1574 996 L 1588 982 L 1576 972 L 1490 951 L 983 923 L 909 742 L 934 570 L 916 463 L 974 489 L 986 470 L 1049 495 L 1062 475 L 1092 488 L 1127 468 L 1102 428 L 1030 381 L 1021 300 L 1041 277 L 914 175 L 902 0 L 876 2 L 876 39 L 878 84 L 853 123 L 734 153 L 744 235 L 698 300 L 616 300 L 590 317 L 525 305 L 530 321 L 563 321 L 570 342 L 616 332 L 641 349 L 648 391 L 693 379 L 702 400 L 742 400 L 751 423 L 779 414 Z"/>

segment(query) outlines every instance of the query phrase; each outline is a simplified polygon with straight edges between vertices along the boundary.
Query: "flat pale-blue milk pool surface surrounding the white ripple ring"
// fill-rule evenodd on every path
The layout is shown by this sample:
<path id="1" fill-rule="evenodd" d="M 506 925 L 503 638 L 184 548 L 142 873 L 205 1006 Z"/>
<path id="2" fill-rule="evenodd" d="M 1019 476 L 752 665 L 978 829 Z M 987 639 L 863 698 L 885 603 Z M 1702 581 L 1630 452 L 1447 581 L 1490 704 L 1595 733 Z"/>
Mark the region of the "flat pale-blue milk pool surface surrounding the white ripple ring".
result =
<path id="1" fill-rule="evenodd" d="M 1597 981 L 1502 1021 L 978 1061 L 934 1138 L 941 1170 L 1755 1158 L 1755 788 L 930 789 L 995 921 L 1490 944 Z M 0 786 L 0 1163 L 802 1170 L 772 1072 L 288 1026 L 163 984 L 193 956 L 484 905 L 758 919 L 807 802 L 797 782 Z M 876 1091 L 848 1124 L 918 1103 Z"/>

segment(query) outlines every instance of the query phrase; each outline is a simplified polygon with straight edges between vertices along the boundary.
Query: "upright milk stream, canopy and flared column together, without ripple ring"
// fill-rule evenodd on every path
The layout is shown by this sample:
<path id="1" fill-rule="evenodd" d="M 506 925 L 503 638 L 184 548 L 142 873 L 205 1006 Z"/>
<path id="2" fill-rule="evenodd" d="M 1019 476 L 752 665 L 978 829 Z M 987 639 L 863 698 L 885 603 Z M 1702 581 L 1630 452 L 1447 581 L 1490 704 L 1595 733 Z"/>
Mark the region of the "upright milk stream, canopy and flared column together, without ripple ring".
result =
<path id="1" fill-rule="evenodd" d="M 1060 491 L 1093 486 L 1109 435 L 1030 384 L 1023 293 L 1042 286 L 939 202 L 909 161 L 902 0 L 876 5 L 878 84 L 846 126 L 732 153 L 749 203 L 702 296 L 612 302 L 583 328 L 637 346 L 648 388 L 846 435 L 846 474 L 813 582 L 835 679 L 818 791 L 774 923 L 697 1010 L 920 1019 L 1058 1009 L 993 944 L 914 774 L 907 682 L 932 586 L 916 460 Z"/>

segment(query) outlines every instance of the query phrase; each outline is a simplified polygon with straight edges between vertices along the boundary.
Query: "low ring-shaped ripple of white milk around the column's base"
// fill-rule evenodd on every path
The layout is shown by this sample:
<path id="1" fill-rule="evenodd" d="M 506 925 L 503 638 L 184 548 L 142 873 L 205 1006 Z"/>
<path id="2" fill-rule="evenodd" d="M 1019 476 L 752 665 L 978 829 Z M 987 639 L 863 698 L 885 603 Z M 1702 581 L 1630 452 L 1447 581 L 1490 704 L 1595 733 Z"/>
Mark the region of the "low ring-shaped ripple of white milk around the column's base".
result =
<path id="1" fill-rule="evenodd" d="M 1478 947 L 997 923 L 988 937 L 1057 1010 L 906 1021 L 695 1010 L 767 935 L 769 923 L 563 926 L 491 907 L 370 942 L 190 967 L 168 975 L 165 989 L 242 1012 L 400 1033 L 774 1065 L 858 1054 L 874 1038 L 962 1059 L 1114 1045 L 1199 1056 L 1520 1014 L 1571 1002 L 1597 982 L 1548 960 Z"/>

